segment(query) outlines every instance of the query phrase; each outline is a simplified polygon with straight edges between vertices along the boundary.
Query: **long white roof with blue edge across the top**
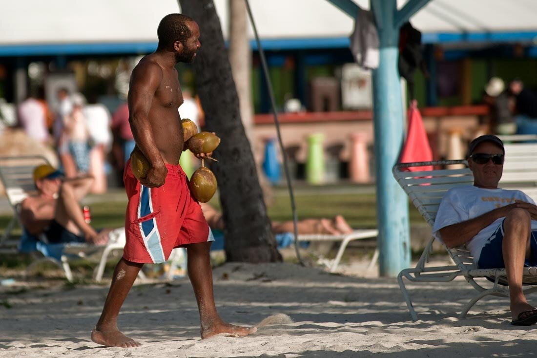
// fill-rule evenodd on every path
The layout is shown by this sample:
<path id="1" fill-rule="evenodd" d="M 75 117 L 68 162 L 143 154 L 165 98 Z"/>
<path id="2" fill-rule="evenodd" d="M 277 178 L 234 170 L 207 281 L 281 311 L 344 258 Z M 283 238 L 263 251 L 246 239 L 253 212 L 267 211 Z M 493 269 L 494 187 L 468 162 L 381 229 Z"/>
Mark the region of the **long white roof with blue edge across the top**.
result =
<path id="1" fill-rule="evenodd" d="M 227 37 L 227 0 L 214 2 Z M 406 2 L 398 0 L 398 7 Z M 368 0 L 355 3 L 368 9 Z M 266 48 L 344 47 L 354 26 L 325 0 L 250 5 Z M 8 2 L 0 20 L 0 56 L 153 51 L 159 20 L 178 11 L 176 0 Z M 534 0 L 432 0 L 411 22 L 424 42 L 534 41 L 535 18 Z"/>

